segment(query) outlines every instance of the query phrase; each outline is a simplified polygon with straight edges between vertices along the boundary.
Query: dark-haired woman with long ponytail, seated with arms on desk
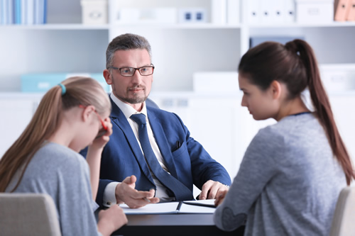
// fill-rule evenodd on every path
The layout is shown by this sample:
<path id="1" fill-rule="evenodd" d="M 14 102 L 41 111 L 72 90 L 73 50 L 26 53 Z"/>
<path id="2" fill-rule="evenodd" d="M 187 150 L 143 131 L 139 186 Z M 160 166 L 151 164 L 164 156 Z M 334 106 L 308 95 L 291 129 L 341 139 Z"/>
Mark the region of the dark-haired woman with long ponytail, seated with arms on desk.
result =
<path id="1" fill-rule="evenodd" d="M 315 54 L 304 40 L 251 48 L 239 64 L 239 88 L 259 130 L 229 191 L 216 199 L 214 222 L 245 235 L 329 235 L 340 191 L 354 169 L 334 122 Z M 314 111 L 301 99 L 309 89 Z"/>

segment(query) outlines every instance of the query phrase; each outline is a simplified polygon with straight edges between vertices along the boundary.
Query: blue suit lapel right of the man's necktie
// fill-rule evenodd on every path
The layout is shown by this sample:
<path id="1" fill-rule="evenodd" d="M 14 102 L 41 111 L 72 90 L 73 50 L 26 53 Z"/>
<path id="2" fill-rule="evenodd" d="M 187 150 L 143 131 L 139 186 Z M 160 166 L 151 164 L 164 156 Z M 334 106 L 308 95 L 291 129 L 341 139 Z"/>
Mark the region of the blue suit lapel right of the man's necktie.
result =
<path id="1" fill-rule="evenodd" d="M 147 114 L 149 124 L 153 130 L 153 134 L 155 137 L 155 141 L 158 144 L 159 150 L 163 158 L 165 159 L 165 164 L 168 167 L 168 170 L 172 176 L 178 179 L 178 174 L 176 173 L 175 162 L 173 159 L 173 155 L 170 151 L 170 145 L 168 140 L 165 137 L 165 133 L 163 128 L 161 127 L 160 123 L 156 119 L 155 113 L 151 111 L 150 108 L 147 107 Z"/>

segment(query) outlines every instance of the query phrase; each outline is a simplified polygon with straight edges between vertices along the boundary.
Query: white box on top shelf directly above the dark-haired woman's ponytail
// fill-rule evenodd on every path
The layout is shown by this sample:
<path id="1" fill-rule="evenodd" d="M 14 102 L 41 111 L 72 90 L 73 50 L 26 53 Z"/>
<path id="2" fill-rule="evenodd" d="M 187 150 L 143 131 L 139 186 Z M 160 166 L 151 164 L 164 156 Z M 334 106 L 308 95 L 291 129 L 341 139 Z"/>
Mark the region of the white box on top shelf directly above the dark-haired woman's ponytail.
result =
<path id="1" fill-rule="evenodd" d="M 334 18 L 334 0 L 296 0 L 297 23 L 329 23 Z"/>

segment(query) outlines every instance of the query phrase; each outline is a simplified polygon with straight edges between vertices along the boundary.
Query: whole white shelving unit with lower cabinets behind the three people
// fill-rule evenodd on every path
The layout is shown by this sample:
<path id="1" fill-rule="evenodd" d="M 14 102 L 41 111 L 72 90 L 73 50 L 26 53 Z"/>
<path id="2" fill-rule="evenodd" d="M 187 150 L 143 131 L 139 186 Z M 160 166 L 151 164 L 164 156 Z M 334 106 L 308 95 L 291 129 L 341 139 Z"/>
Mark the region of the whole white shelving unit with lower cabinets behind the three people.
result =
<path id="1" fill-rule="evenodd" d="M 253 135 L 269 121 L 253 121 L 245 108 L 240 107 L 240 94 L 193 93 L 194 72 L 236 71 L 241 55 L 249 49 L 249 38 L 258 36 L 302 36 L 312 45 L 321 64 L 355 64 L 355 23 L 249 24 L 243 14 L 248 0 L 241 0 L 240 23 L 214 24 L 211 23 L 214 11 L 211 0 L 119 1 L 122 6 L 203 7 L 207 10 L 207 23 L 108 23 L 89 26 L 81 23 L 80 0 L 51 0 L 48 1 L 47 24 L 0 26 L 0 123 L 4 124 L 0 125 L 0 142 L 4 144 L 0 157 L 6 145 L 11 145 L 26 127 L 41 97 L 20 93 L 21 74 L 101 73 L 105 67 L 107 44 L 121 33 L 137 33 L 149 40 L 156 68 L 151 97 L 160 107 L 178 113 L 192 136 L 227 167 L 231 176 L 236 174 Z M 346 117 L 351 115 L 348 109 L 352 104 L 349 102 L 355 95 L 351 92 L 333 95 L 334 106 L 337 106 L 334 112 L 342 123 L 346 143 L 351 145 L 355 127 Z M 217 110 L 216 115 L 211 114 L 214 109 Z M 209 112 L 210 120 L 199 123 L 195 116 L 203 112 Z M 233 120 L 236 122 L 231 129 L 223 125 L 210 127 L 212 133 L 206 135 L 204 128 L 218 121 L 219 112 L 230 115 L 224 126 Z M 355 150 L 351 153 L 355 154 Z"/>

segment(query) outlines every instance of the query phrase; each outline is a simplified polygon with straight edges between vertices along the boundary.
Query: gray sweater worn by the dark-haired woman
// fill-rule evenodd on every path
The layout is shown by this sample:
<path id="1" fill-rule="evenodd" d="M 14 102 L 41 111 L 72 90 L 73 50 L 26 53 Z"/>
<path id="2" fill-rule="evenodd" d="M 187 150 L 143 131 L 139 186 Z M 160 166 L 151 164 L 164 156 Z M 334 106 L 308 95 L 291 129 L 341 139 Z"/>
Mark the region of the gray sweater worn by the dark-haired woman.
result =
<path id="1" fill-rule="evenodd" d="M 311 113 L 259 130 L 214 222 L 245 235 L 329 235 L 345 174 Z"/>

